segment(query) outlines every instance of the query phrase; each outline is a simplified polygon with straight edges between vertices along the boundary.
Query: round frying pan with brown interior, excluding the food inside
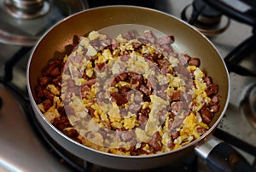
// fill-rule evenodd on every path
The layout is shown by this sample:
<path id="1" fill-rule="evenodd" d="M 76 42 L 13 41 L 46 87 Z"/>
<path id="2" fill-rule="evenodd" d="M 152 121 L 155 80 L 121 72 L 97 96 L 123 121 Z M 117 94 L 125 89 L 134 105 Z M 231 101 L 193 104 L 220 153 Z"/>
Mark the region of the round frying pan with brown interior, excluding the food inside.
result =
<path id="1" fill-rule="evenodd" d="M 213 78 L 213 82 L 219 85 L 218 95 L 221 96 L 220 108 L 210 123 L 210 129 L 199 139 L 172 152 L 165 152 L 147 156 L 123 156 L 100 152 L 90 147 L 83 146 L 63 135 L 58 129 L 49 123 L 44 114 L 40 112 L 35 101 L 34 88 L 38 84 L 41 70 L 46 66 L 55 52 L 64 52 L 67 45 L 73 43 L 74 35 L 84 35 L 93 30 L 101 30 L 108 26 L 120 24 L 136 24 L 152 27 L 166 35 L 174 35 L 175 43 L 183 54 L 201 58 L 201 69 Z M 73 155 L 90 163 L 96 163 L 113 169 L 152 169 L 166 164 L 175 163 L 190 152 L 197 152 L 205 158 L 210 156 L 204 153 L 210 146 L 210 151 L 215 152 L 218 141 L 212 138 L 212 132 L 218 126 L 228 106 L 230 95 L 230 78 L 224 60 L 218 50 L 214 48 L 207 37 L 170 14 L 165 14 L 154 9 L 146 9 L 135 6 L 105 6 L 96 9 L 88 9 L 78 14 L 73 14 L 65 20 L 61 20 L 40 38 L 34 49 L 27 66 L 27 89 L 33 111 L 38 122 L 46 132 L 60 146 Z M 223 152 L 225 148 L 218 147 L 217 151 Z M 220 149 L 220 150 L 219 150 Z M 224 150 L 223 150 L 224 149 Z M 210 152 L 208 151 L 208 152 Z M 233 150 L 232 150 L 233 151 Z M 203 152 L 203 153 L 202 153 Z M 208 154 L 208 153 L 207 153 Z M 237 155 L 228 152 L 225 156 Z M 218 155 L 218 153 L 217 153 Z M 233 158 L 234 158 L 233 156 Z M 224 168 L 232 169 L 234 163 L 240 163 L 242 158 L 235 156 L 234 161 Z M 229 157 L 223 157 L 225 159 Z M 214 158 L 213 158 L 214 159 Z M 219 160 L 219 159 L 218 159 Z M 214 163 L 214 162 L 213 162 Z M 212 164 L 213 164 L 212 163 Z M 216 161 L 215 161 L 216 163 Z M 217 162 L 218 163 L 218 162 Z"/>

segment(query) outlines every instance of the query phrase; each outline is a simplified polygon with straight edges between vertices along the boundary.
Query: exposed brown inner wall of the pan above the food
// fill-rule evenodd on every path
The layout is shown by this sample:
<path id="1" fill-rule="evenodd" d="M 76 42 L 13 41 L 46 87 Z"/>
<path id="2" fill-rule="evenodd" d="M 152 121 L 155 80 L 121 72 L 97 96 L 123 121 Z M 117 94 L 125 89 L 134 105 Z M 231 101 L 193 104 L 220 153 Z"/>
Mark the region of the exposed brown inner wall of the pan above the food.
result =
<path id="1" fill-rule="evenodd" d="M 199 33 L 177 19 L 154 10 L 131 7 L 92 9 L 62 21 L 40 40 L 32 54 L 28 71 L 30 82 L 29 89 L 33 92 L 41 69 L 44 68 L 48 60 L 52 58 L 55 51 L 63 52 L 67 44 L 72 43 L 73 35 L 84 35 L 92 30 L 100 30 L 106 26 L 122 23 L 135 23 L 150 26 L 160 32 L 164 32 L 166 35 L 174 35 L 178 49 L 180 49 L 183 54 L 201 58 L 201 69 L 207 72 L 207 75 L 211 76 L 214 83 L 217 83 L 220 88 L 218 92 L 218 95 L 222 97 L 220 109 L 210 124 L 211 126 L 213 124 L 217 125 L 216 121 L 224 110 L 229 92 L 229 83 L 223 61 L 220 59 L 218 52 L 212 48 L 212 45 L 207 42 L 205 37 L 202 37 Z M 209 132 L 211 132 L 212 129 L 210 129 Z"/>

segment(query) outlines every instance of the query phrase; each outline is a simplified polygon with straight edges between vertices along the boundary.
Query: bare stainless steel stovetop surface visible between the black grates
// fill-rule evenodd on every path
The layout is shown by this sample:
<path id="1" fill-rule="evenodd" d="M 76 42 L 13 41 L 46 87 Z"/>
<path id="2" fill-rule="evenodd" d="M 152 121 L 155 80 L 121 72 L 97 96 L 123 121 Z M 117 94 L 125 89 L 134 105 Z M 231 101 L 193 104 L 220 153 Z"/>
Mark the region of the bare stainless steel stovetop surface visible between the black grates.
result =
<path id="1" fill-rule="evenodd" d="M 191 2 L 189 0 L 156 0 L 155 9 L 180 18 L 183 8 Z M 219 53 L 225 57 L 239 43 L 251 35 L 252 28 L 250 26 L 231 20 L 230 27 L 225 32 L 216 37 L 208 38 L 216 46 Z M 0 76 L 3 75 L 2 70 L 5 61 L 9 60 L 19 49 L 20 46 L 0 43 Z M 21 59 L 15 67 L 13 83 L 26 92 L 26 63 L 29 52 L 25 56 L 26 58 Z M 252 56 L 244 58 L 239 63 L 253 72 L 256 71 L 254 67 L 256 61 Z M 256 142 L 256 129 L 247 122 L 247 118 L 242 114 L 241 102 L 244 100 L 247 90 L 251 89 L 254 84 L 256 84 L 255 77 L 244 77 L 233 72 L 230 73 L 230 104 L 224 118 L 218 125 L 218 129 L 222 129 L 230 135 L 235 135 L 253 146 Z M 11 91 L 1 85 L 0 95 L 3 99 L 3 107 L 0 110 L 0 171 L 5 169 L 11 171 L 14 167 L 17 168 L 17 171 L 42 168 L 44 170 L 48 168 L 47 171 L 73 170 L 66 163 L 55 158 L 53 152 L 47 151 L 48 148 L 38 139 L 37 132 L 33 131 L 34 128 L 30 126 L 20 104 Z M 252 155 L 247 152 L 241 153 L 250 163 L 253 163 Z"/>

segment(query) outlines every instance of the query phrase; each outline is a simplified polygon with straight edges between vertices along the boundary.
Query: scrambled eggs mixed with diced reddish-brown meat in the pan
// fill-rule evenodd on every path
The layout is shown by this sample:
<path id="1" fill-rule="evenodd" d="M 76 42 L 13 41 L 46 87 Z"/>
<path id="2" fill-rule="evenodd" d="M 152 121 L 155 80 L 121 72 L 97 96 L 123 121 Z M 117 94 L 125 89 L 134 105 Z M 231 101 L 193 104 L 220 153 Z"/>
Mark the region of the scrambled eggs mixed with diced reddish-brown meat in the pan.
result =
<path id="1" fill-rule="evenodd" d="M 39 109 L 62 133 L 135 156 L 170 152 L 209 129 L 218 84 L 201 70 L 200 57 L 173 49 L 174 36 L 93 31 L 76 40 L 71 54 L 44 68 L 35 88 Z"/>

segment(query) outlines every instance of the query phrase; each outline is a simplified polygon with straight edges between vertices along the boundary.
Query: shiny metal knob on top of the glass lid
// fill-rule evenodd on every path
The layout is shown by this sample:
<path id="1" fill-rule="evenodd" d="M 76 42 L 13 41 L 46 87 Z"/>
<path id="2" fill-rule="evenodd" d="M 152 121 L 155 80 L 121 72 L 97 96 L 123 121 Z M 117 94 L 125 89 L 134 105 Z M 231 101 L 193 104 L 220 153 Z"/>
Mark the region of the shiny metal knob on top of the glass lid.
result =
<path id="1" fill-rule="evenodd" d="M 49 12 L 49 2 L 45 0 L 5 0 L 9 14 L 18 19 L 33 19 Z"/>

